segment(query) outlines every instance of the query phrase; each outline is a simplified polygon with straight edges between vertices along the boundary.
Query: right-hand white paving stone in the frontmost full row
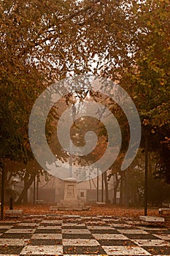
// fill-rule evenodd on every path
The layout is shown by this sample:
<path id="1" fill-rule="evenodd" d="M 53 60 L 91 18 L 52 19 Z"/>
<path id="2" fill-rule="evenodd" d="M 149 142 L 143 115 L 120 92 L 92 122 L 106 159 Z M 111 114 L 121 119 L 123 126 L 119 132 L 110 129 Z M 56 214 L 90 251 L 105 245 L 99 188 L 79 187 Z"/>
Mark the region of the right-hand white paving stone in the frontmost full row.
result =
<path id="1" fill-rule="evenodd" d="M 150 255 L 149 252 L 137 246 L 102 246 L 107 255 Z"/>

